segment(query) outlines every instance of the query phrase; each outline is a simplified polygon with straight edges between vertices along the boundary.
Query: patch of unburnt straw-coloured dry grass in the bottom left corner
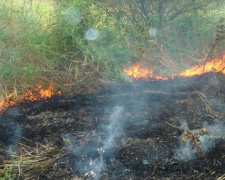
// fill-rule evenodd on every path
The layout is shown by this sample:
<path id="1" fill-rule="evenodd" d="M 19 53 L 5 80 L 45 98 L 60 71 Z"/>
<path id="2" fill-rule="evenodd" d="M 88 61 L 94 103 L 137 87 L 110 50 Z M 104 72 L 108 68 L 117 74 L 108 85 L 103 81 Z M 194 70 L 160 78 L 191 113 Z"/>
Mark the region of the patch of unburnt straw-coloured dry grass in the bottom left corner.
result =
<path id="1" fill-rule="evenodd" d="M 26 180 L 34 179 L 35 173 L 44 172 L 49 165 L 67 154 L 65 150 L 56 146 L 40 143 L 37 143 L 36 147 L 18 143 L 17 151 L 9 153 L 11 159 L 4 160 L 0 168 L 12 168 L 17 177 L 22 176 Z"/>

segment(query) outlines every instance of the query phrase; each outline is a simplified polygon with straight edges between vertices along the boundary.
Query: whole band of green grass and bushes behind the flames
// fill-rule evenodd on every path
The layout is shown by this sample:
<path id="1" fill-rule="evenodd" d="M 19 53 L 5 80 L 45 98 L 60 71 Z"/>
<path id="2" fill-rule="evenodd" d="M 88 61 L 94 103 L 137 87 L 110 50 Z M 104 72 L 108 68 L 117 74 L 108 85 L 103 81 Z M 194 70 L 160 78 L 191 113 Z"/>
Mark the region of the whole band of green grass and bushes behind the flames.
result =
<path id="1" fill-rule="evenodd" d="M 50 82 L 89 93 L 128 80 L 122 68 L 137 61 L 161 75 L 203 63 L 223 7 L 222 0 L 2 0 L 0 94 Z"/>

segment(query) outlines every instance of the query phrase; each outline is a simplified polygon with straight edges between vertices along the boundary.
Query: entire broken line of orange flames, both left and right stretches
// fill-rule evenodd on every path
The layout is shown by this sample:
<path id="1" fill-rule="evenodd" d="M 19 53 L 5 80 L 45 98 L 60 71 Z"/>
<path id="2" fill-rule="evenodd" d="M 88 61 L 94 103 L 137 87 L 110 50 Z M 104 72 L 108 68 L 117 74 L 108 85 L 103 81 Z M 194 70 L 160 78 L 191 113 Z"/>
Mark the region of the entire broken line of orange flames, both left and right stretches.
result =
<path id="1" fill-rule="evenodd" d="M 170 78 L 173 79 L 174 77 L 192 77 L 207 72 L 221 72 L 225 74 L 225 55 L 223 55 L 221 59 L 213 59 L 203 66 L 193 66 L 192 68 L 187 69 L 184 72 L 173 74 L 171 77 L 156 76 L 154 75 L 153 69 L 143 68 L 140 62 L 123 69 L 123 71 L 133 79 L 145 80 L 168 80 Z M 61 95 L 61 92 L 54 91 L 52 84 L 50 84 L 47 89 L 43 89 L 41 85 L 37 85 L 36 88 L 27 90 L 27 92 L 24 93 L 22 98 L 19 100 L 15 98 L 16 95 L 14 93 L 10 93 L 5 98 L 5 100 L 0 100 L 0 112 L 5 110 L 9 106 L 15 105 L 16 103 L 47 99 L 52 97 L 53 95 Z"/>

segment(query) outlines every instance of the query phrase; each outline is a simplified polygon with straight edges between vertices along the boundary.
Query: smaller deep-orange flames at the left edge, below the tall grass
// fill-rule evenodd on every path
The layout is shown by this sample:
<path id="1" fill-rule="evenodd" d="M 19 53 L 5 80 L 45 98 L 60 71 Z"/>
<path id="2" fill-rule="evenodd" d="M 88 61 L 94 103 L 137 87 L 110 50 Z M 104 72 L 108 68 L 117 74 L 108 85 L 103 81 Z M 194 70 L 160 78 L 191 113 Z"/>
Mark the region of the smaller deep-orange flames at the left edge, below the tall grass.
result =
<path id="1" fill-rule="evenodd" d="M 21 99 L 16 99 L 15 93 L 10 93 L 5 100 L 0 101 L 0 112 L 4 111 L 10 106 L 17 103 L 23 103 L 26 101 L 37 101 L 40 99 L 47 99 L 53 95 L 61 95 L 61 92 L 56 92 L 53 88 L 52 83 L 47 89 L 43 89 L 40 84 L 38 84 L 34 89 L 28 89 L 21 97 Z"/>

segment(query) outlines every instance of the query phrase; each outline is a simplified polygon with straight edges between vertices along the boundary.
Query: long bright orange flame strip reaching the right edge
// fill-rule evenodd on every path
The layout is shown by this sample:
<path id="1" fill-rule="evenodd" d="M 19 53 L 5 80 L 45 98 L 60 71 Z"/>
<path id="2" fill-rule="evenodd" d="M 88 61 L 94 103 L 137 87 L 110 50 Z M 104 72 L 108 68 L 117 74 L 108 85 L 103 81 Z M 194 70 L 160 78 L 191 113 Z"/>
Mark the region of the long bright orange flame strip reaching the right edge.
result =
<path id="1" fill-rule="evenodd" d="M 185 70 L 179 74 L 173 74 L 171 77 L 155 76 L 153 69 L 141 67 L 141 63 L 134 64 L 128 68 L 123 69 L 124 73 L 133 79 L 146 80 L 168 80 L 174 77 L 192 77 L 198 76 L 207 72 L 221 72 L 225 74 L 225 55 L 221 59 L 213 59 L 203 66 L 195 65 L 190 69 Z"/>

